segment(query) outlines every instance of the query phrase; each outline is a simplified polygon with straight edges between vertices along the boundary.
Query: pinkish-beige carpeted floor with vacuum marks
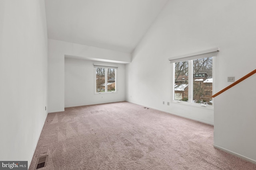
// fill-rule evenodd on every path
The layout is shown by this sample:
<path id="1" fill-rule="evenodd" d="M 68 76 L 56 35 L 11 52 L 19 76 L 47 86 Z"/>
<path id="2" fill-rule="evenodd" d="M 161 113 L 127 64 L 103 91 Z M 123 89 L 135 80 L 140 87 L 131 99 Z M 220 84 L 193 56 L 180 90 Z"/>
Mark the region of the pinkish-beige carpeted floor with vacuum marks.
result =
<path id="1" fill-rule="evenodd" d="M 213 126 L 128 102 L 49 113 L 29 170 L 256 170 L 213 147 Z"/>

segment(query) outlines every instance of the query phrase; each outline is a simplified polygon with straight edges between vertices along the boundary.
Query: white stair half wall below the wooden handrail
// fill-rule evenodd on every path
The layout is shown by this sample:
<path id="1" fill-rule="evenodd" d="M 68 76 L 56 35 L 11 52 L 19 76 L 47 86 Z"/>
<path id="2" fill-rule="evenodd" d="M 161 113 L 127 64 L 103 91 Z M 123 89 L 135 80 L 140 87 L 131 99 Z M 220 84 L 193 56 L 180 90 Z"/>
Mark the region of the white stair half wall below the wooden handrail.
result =
<path id="1" fill-rule="evenodd" d="M 256 74 L 216 96 L 214 145 L 256 163 Z"/>

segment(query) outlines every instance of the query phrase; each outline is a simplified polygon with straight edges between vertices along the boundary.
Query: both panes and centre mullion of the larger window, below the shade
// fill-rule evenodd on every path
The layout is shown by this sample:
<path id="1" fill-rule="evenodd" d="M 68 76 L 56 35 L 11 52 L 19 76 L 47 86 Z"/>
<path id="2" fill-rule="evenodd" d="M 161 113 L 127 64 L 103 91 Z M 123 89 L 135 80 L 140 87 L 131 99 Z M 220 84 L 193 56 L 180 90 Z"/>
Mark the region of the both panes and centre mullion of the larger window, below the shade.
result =
<path id="1" fill-rule="evenodd" d="M 193 68 L 192 78 L 190 67 Z M 212 80 L 212 57 L 174 63 L 174 100 L 188 102 L 192 96 L 193 103 L 212 105 Z"/>

